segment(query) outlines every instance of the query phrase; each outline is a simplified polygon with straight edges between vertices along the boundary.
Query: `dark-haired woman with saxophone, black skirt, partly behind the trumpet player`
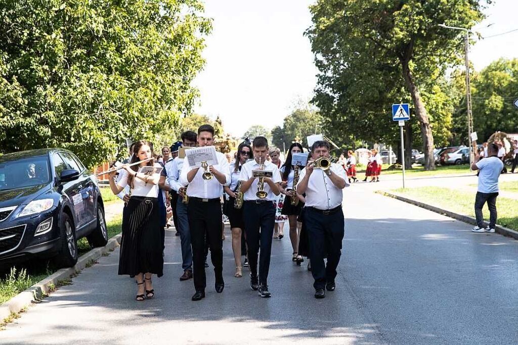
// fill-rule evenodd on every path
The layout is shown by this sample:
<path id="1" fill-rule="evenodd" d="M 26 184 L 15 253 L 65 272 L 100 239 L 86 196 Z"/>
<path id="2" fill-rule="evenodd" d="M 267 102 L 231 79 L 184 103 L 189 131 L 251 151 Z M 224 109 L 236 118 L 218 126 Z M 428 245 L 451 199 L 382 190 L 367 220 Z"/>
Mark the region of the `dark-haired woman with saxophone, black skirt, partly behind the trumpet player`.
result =
<path id="1" fill-rule="evenodd" d="M 291 198 L 295 194 L 295 191 L 293 190 L 293 178 L 295 172 L 293 170 L 294 167 L 292 166 L 292 155 L 294 153 L 302 152 L 302 145 L 300 143 L 293 143 L 290 146 L 286 156 L 286 161 L 280 169 L 282 176 L 281 193 L 286 196 L 282 205 L 281 214 L 288 216 L 288 221 L 290 222 L 290 240 L 293 247 L 292 261 L 296 261 L 298 265 L 300 265 L 301 262 L 304 262 L 302 256 L 298 255 L 298 237 L 300 233 L 300 226 L 297 225 L 297 217 L 300 214 L 300 210 L 304 207 L 304 203 L 300 201 L 297 205 L 292 205 L 291 203 Z M 299 173 L 303 168 L 304 167 L 300 167 Z"/>

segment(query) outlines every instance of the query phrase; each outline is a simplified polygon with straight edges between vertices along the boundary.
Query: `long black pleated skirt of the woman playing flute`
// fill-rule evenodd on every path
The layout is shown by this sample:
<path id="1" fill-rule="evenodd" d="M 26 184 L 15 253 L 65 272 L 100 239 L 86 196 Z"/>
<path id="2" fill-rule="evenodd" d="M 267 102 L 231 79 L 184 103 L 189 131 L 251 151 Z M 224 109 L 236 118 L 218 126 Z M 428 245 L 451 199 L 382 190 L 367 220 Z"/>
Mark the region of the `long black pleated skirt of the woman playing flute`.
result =
<path id="1" fill-rule="evenodd" d="M 163 276 L 160 209 L 157 198 L 133 196 L 122 218 L 119 275 Z"/>

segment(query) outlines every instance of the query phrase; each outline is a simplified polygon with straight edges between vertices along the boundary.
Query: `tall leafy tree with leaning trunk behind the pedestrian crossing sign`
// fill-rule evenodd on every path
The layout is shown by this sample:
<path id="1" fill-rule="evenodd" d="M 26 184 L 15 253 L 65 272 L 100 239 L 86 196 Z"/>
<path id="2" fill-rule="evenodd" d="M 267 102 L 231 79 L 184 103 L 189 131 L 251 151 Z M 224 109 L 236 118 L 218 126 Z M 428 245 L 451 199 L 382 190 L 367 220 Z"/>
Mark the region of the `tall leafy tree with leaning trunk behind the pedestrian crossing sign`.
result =
<path id="1" fill-rule="evenodd" d="M 457 32 L 438 24 L 471 27 L 482 20 L 482 5 L 473 0 L 319 0 L 310 10 L 313 25 L 306 35 L 320 70 L 314 101 L 323 115 L 339 114 L 342 121 L 356 123 L 347 117 L 365 112 L 389 116 L 392 102 L 411 100 L 425 169 L 434 169 L 424 85 L 461 61 L 463 53 Z"/>

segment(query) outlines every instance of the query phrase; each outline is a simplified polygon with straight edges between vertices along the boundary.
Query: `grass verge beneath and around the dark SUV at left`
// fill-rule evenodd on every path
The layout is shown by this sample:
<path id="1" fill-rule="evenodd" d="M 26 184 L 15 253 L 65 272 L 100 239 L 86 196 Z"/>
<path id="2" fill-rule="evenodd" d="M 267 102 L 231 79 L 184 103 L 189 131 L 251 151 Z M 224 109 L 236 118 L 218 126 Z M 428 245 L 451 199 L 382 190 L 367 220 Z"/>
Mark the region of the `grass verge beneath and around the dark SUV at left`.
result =
<path id="1" fill-rule="evenodd" d="M 108 238 L 121 232 L 122 220 L 120 217 L 117 218 L 107 223 Z M 77 242 L 77 246 L 79 256 L 92 249 L 85 237 Z M 7 272 L 0 271 L 0 304 L 56 271 L 57 267 L 53 266 L 49 260 L 28 261 L 8 268 Z"/>

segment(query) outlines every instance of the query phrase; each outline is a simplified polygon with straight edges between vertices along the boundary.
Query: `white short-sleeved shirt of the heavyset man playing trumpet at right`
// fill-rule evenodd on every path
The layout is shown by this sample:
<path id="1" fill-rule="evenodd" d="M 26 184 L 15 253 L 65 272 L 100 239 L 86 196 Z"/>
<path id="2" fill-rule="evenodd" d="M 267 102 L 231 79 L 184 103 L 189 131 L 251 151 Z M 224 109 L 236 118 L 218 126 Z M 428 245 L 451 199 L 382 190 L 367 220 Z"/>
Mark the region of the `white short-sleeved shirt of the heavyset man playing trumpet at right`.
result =
<path id="1" fill-rule="evenodd" d="M 331 163 L 330 169 L 346 182 L 346 187 L 349 186 L 346 171 L 339 164 Z M 300 172 L 300 180 L 297 186 L 304 179 L 304 176 L 306 176 L 306 168 Z M 314 169 L 309 176 L 308 188 L 306 189 L 306 207 L 311 206 L 327 211 L 340 206 L 342 198 L 342 190 L 335 186 L 329 176 L 321 169 Z"/>

